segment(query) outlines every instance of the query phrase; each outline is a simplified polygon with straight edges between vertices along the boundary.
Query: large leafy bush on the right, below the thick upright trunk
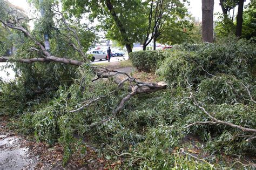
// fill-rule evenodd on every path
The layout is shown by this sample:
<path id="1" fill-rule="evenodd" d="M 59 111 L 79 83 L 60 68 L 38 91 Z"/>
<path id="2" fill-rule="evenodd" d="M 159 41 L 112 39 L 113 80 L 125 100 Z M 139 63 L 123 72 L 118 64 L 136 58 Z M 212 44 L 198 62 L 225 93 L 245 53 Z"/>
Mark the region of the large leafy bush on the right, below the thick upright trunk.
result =
<path id="1" fill-rule="evenodd" d="M 168 54 L 169 53 L 169 54 Z M 166 51 L 157 73 L 171 86 L 198 85 L 206 77 L 231 74 L 238 79 L 252 77 L 256 64 L 256 45 L 249 40 L 226 38 L 218 43 L 181 45 Z"/>

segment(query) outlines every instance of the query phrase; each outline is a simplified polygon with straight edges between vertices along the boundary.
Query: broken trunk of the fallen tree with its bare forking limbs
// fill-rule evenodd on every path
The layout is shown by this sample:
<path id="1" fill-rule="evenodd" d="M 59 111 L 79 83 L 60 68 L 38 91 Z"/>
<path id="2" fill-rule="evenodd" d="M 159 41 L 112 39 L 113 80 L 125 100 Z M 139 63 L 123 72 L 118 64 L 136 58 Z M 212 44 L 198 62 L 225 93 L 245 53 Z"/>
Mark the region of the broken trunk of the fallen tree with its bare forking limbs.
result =
<path id="1" fill-rule="evenodd" d="M 37 58 L 29 58 L 29 59 L 15 59 L 15 58 L 10 58 L 10 57 L 4 57 L 4 56 L 0 56 L 0 62 L 8 62 L 9 60 L 11 60 L 12 62 L 21 62 L 21 63 L 27 63 L 27 64 L 31 64 L 34 62 L 56 62 L 56 63 L 63 63 L 63 64 L 70 64 L 70 65 L 75 65 L 75 66 L 81 66 L 83 64 L 89 64 L 89 59 L 87 59 L 85 53 L 82 50 L 82 46 L 80 43 L 80 40 L 78 38 L 77 32 L 76 30 L 73 30 L 70 28 L 69 24 L 66 22 L 63 13 L 60 11 L 56 11 L 61 17 L 62 17 L 62 21 L 64 23 L 64 25 L 66 26 L 65 29 L 69 30 L 71 33 L 73 33 L 73 37 L 75 37 L 76 40 L 76 44 L 71 42 L 70 45 L 80 53 L 80 55 L 84 58 L 85 62 L 81 62 L 79 60 L 73 60 L 73 59 L 68 59 L 68 58 L 60 58 L 60 57 L 55 57 L 52 56 L 50 54 L 49 51 L 47 51 L 44 47 L 43 44 L 41 44 L 35 37 L 33 37 L 31 35 L 31 33 L 26 30 L 23 26 L 19 25 L 16 22 L 16 25 L 12 24 L 12 23 L 5 23 L 2 19 L 0 19 L 0 22 L 6 26 L 9 29 L 14 29 L 14 30 L 18 30 L 24 33 L 24 35 L 28 38 L 30 38 L 33 42 L 35 42 L 35 44 L 37 46 L 39 46 L 40 49 L 36 49 L 35 47 L 32 47 L 31 50 L 33 51 L 38 51 L 42 54 L 42 57 L 37 57 Z M 30 20 L 30 19 L 25 19 L 26 21 Z M 17 18 L 14 18 L 14 21 L 17 21 Z M 109 78 L 110 77 L 110 73 L 116 73 L 117 74 L 124 74 L 125 76 L 127 76 L 127 79 L 125 81 L 130 81 L 135 83 L 134 86 L 131 86 L 132 91 L 127 94 L 126 97 L 124 97 L 121 101 L 120 104 L 118 105 L 118 107 L 113 111 L 113 114 L 116 115 L 123 107 L 124 107 L 124 103 L 125 101 L 129 100 L 132 96 L 134 96 L 135 94 L 149 94 L 152 92 L 156 92 L 158 90 L 163 90 L 166 89 L 167 84 L 160 82 L 160 83 L 146 83 L 146 82 L 142 82 L 137 80 L 136 78 L 131 77 L 129 74 L 125 73 L 125 72 L 119 72 L 116 70 L 109 70 L 106 69 L 104 67 L 96 67 L 96 66 L 91 66 L 93 68 L 93 73 L 95 73 L 97 75 L 98 78 Z M 99 68 L 99 69 L 98 69 Z M 117 80 L 120 81 L 120 80 Z M 122 86 L 123 83 L 125 83 L 125 81 L 120 81 L 120 84 L 118 84 L 118 86 Z"/>

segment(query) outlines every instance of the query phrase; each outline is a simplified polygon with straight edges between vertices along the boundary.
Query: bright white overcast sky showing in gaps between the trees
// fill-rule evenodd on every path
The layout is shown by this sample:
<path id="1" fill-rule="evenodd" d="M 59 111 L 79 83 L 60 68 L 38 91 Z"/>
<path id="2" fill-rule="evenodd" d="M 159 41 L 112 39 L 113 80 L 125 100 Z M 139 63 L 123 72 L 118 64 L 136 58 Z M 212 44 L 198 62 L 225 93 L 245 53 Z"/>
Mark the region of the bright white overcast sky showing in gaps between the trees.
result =
<path id="1" fill-rule="evenodd" d="M 8 0 L 14 5 L 20 6 L 25 11 L 29 12 L 29 5 L 26 0 Z M 245 5 L 248 4 L 249 0 L 245 2 Z M 190 0 L 190 6 L 188 6 L 188 11 L 192 13 L 192 15 L 199 21 L 202 18 L 202 11 L 201 11 L 201 0 Z M 221 12 L 221 7 L 219 5 L 219 0 L 214 1 L 214 13 Z M 235 13 L 237 13 L 237 8 L 235 9 Z M 214 18 L 214 20 L 216 17 Z"/>

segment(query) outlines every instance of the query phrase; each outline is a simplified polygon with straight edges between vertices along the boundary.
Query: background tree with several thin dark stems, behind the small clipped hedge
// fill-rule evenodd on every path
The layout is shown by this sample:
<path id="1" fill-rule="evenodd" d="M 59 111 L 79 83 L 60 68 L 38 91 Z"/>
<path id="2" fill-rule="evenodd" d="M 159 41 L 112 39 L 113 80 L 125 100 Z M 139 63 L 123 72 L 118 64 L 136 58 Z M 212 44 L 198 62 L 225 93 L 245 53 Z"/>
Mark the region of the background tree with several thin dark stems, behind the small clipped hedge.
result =
<path id="1" fill-rule="evenodd" d="M 187 9 L 185 5 L 178 1 L 171 0 L 156 0 L 147 1 L 149 11 L 146 12 L 148 15 L 148 21 L 146 24 L 146 36 L 143 39 L 143 50 L 146 50 L 146 46 L 153 40 L 154 47 L 156 50 L 157 39 L 163 35 L 164 32 L 170 31 L 170 28 L 175 30 L 180 29 L 187 15 Z M 179 31 L 177 33 L 180 33 Z"/>

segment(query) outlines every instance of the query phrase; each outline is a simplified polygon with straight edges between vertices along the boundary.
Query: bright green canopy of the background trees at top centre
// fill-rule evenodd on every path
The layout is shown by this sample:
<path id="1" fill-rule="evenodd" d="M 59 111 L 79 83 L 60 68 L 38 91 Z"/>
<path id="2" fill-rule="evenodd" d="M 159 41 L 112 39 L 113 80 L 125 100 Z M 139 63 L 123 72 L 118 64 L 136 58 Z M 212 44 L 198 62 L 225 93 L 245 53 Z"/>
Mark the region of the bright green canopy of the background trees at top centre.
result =
<path id="1" fill-rule="evenodd" d="M 177 0 L 65 0 L 63 3 L 64 10 L 73 16 L 84 17 L 87 14 L 90 21 L 97 18 L 99 27 L 106 31 L 106 38 L 128 45 L 128 49 L 133 43 L 139 42 L 145 50 L 152 40 L 156 42 L 160 36 L 169 37 L 169 42 L 180 43 L 180 38 L 188 37 L 184 30 L 191 29 L 192 26 L 184 2 Z M 170 32 L 174 30 L 179 37 L 170 36 Z"/>

